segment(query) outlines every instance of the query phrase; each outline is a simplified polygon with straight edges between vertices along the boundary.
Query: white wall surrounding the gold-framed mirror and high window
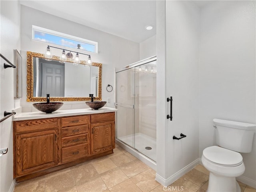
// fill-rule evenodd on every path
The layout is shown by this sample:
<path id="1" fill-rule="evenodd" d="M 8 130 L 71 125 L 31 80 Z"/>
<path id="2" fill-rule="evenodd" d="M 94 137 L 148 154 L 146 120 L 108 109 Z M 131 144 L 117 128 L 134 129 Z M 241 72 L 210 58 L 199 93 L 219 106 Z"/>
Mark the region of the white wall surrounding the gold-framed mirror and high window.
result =
<path id="1" fill-rule="evenodd" d="M 90 54 L 93 62 L 102 63 L 102 100 L 106 101 L 107 98 L 110 98 L 111 103 L 107 105 L 114 107 L 115 90 L 109 93 L 106 91 L 106 87 L 108 84 L 114 87 L 114 67 L 120 68 L 139 60 L 139 44 L 22 5 L 22 58 L 26 58 L 26 51 L 44 53 L 46 46 L 48 45 L 46 43 L 31 40 L 32 25 L 98 42 L 99 53 Z M 52 49 L 52 54 L 59 55 L 60 50 Z M 86 58 L 82 58 L 82 56 L 80 57 L 81 60 L 86 60 Z M 23 67 L 26 69 L 26 60 L 23 60 Z M 26 70 L 23 70 L 23 72 L 22 77 L 26 80 Z M 23 84 L 23 95 L 24 97 L 21 99 L 21 105 L 31 106 L 32 102 L 26 102 L 26 84 Z M 64 102 L 64 105 L 67 104 L 81 104 L 82 107 L 87 107 L 84 102 Z M 64 108 L 64 106 L 62 108 Z"/>

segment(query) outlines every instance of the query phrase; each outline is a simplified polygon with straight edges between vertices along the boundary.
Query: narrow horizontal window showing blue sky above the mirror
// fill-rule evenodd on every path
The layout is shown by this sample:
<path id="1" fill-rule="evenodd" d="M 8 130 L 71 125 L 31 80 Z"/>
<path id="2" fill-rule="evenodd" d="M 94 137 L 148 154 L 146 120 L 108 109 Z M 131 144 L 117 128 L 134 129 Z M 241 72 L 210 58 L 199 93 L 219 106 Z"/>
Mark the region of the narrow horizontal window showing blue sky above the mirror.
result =
<path id="1" fill-rule="evenodd" d="M 78 44 L 80 44 L 81 50 L 94 53 L 98 52 L 98 42 L 56 32 L 34 25 L 32 25 L 32 30 L 32 39 L 36 41 L 46 42 L 74 49 L 77 49 Z"/>

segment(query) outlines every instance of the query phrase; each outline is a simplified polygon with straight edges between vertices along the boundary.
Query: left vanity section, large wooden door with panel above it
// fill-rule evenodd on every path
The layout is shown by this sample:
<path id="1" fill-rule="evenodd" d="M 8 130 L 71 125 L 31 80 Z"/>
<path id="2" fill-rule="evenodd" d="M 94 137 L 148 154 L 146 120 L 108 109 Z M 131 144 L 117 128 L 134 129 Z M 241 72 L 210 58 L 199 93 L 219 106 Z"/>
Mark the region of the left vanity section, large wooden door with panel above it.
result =
<path id="1" fill-rule="evenodd" d="M 14 175 L 58 164 L 57 118 L 14 122 Z"/>

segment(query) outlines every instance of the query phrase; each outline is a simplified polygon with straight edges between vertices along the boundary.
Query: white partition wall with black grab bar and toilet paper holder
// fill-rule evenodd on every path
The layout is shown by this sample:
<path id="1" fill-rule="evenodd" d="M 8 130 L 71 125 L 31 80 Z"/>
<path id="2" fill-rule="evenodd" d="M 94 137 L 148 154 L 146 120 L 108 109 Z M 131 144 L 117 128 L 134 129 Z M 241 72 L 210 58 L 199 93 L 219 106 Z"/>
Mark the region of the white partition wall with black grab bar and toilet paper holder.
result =
<path id="1" fill-rule="evenodd" d="M 177 172 L 198 159 L 200 11 L 192 1 L 166 1 L 165 6 L 166 50 L 163 48 L 164 45 L 160 46 L 163 49 L 162 52 L 166 53 L 166 93 L 165 98 L 161 98 L 164 102 L 158 102 L 158 105 L 160 105 L 159 108 L 162 107 L 162 110 L 166 107 L 167 109 L 164 117 L 162 117 L 163 114 L 161 117 L 158 116 L 158 119 L 165 121 L 165 132 L 158 120 L 157 146 L 159 146 L 158 151 L 164 149 L 163 146 L 166 147 L 166 156 L 158 152 L 160 157 L 157 163 L 160 160 L 161 164 L 157 164 L 156 179 L 161 184 L 168 185 L 177 179 L 174 176 Z M 164 27 L 159 28 L 157 32 L 160 30 L 164 30 Z M 160 44 L 162 38 L 157 34 L 157 41 L 159 41 L 157 45 Z M 159 60 L 164 62 L 164 54 L 160 53 L 157 57 L 159 69 L 162 68 L 159 66 L 162 64 Z M 158 75 L 162 76 L 162 74 Z M 161 77 L 157 81 L 158 85 L 164 83 Z M 170 102 L 166 102 L 166 98 L 170 96 L 173 98 L 172 121 L 166 119 L 166 114 L 170 114 Z M 187 137 L 182 140 L 172 139 L 174 135 L 179 137 L 180 133 Z M 165 144 L 160 141 L 164 137 L 160 134 L 166 135 Z M 162 158 L 165 158 L 166 162 L 163 162 Z"/>

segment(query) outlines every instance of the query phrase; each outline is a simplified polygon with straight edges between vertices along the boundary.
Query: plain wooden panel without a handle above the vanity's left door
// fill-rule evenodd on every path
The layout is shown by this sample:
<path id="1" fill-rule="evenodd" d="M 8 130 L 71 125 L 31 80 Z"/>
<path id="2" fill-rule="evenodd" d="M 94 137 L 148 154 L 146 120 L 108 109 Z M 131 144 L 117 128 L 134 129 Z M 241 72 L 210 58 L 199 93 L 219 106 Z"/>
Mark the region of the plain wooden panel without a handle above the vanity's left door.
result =
<path id="1" fill-rule="evenodd" d="M 37 131 L 58 128 L 57 118 L 17 121 L 15 122 L 15 125 L 16 125 L 16 133 L 37 132 Z"/>

